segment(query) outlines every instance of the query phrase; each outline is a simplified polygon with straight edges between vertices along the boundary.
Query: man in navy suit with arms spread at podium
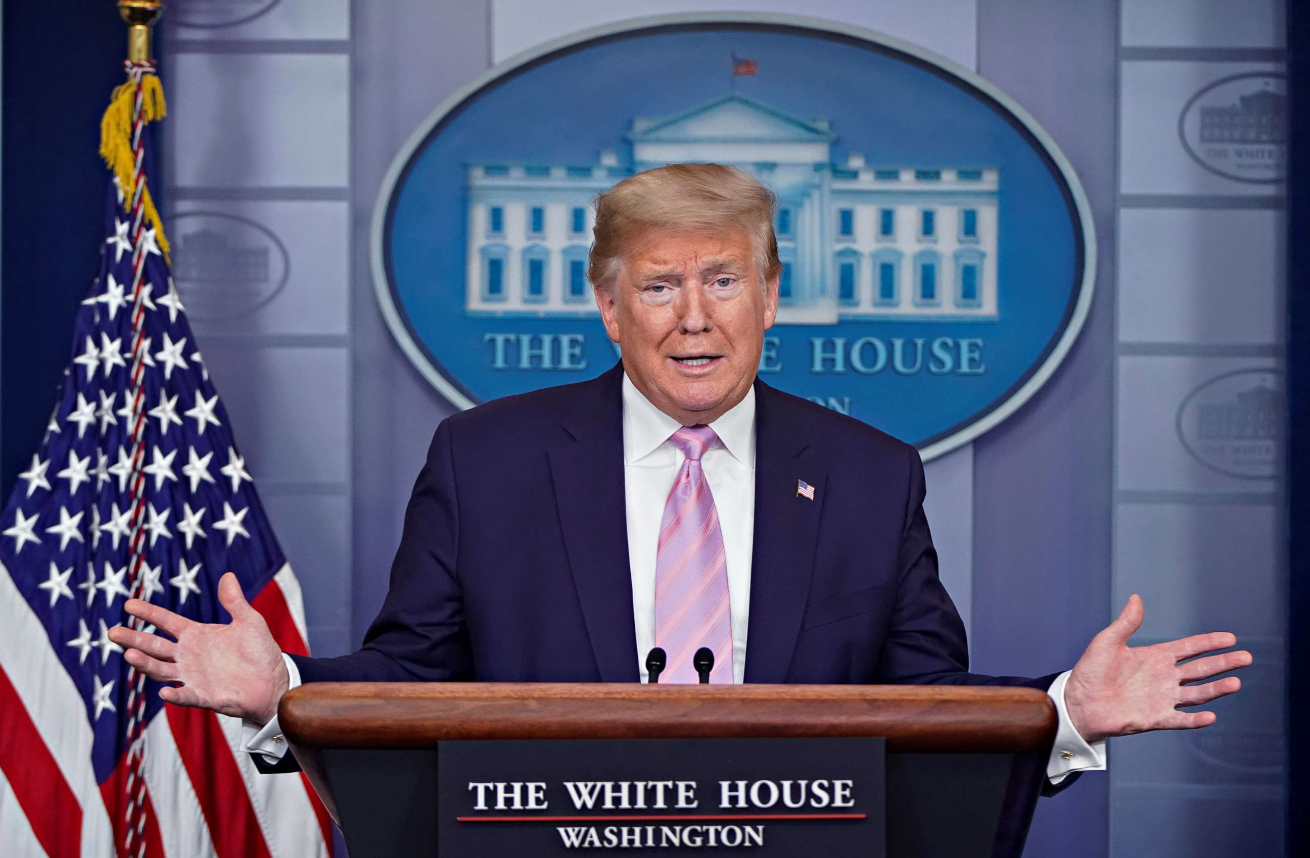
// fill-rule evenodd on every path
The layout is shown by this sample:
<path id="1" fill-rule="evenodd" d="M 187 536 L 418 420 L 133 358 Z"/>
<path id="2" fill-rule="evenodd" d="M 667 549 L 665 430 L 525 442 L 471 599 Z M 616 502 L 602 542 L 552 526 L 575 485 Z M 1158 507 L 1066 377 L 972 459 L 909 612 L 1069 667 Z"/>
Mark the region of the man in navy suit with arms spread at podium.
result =
<path id="1" fill-rule="evenodd" d="M 246 720 L 280 757 L 278 701 L 328 680 L 1002 684 L 1047 689 L 1052 783 L 1103 768 L 1102 743 L 1204 727 L 1183 713 L 1241 686 L 1183 685 L 1251 663 L 1226 633 L 1131 648 L 1137 596 L 1066 673 L 967 672 L 937 575 L 918 453 L 756 379 L 778 308 L 772 194 L 684 164 L 597 200 L 590 279 L 622 360 L 593 381 L 508 397 L 436 430 L 386 601 L 358 652 L 284 656 L 228 575 L 233 621 L 127 610 L 176 638 L 114 629 L 160 696 Z M 262 726 L 262 730 L 259 728 Z M 267 760 L 265 761 L 267 762 Z M 290 761 L 287 761 L 290 762 Z M 1022 846 L 1023 830 L 1009 832 Z"/>

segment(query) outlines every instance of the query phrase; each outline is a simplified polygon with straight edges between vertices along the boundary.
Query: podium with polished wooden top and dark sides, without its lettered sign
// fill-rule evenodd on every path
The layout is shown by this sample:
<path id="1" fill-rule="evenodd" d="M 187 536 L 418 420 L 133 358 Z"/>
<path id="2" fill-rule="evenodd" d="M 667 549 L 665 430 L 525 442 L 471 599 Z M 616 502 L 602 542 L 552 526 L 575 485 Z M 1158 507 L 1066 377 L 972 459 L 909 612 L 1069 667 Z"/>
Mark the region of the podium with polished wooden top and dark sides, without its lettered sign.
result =
<path id="1" fill-rule="evenodd" d="M 443 741 L 802 736 L 886 739 L 891 858 L 1018 855 L 1056 734 L 1043 692 L 951 685 L 321 682 L 279 718 L 351 858 L 438 854 Z"/>

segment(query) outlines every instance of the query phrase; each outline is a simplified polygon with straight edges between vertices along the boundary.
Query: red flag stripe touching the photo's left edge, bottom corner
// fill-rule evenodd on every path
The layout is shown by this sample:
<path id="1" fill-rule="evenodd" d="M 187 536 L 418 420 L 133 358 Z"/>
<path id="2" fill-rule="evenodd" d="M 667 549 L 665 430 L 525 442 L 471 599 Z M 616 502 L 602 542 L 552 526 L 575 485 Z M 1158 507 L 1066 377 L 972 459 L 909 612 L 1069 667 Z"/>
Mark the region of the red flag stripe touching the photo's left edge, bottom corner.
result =
<path id="1" fill-rule="evenodd" d="M 41 643 L 39 646 L 45 646 Z M 50 858 L 81 854 L 81 804 L 0 669 L 0 770 Z"/>

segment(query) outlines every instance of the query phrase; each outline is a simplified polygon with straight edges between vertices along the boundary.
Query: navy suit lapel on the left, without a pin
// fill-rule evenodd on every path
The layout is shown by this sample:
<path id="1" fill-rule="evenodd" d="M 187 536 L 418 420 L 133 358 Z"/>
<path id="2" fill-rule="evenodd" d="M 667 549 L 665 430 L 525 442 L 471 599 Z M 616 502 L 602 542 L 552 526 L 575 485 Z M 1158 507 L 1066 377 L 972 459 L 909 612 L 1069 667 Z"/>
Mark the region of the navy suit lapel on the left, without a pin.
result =
<path id="1" fill-rule="evenodd" d="M 635 682 L 637 630 L 624 498 L 622 367 L 596 379 L 550 452 L 565 549 L 604 682 Z"/>

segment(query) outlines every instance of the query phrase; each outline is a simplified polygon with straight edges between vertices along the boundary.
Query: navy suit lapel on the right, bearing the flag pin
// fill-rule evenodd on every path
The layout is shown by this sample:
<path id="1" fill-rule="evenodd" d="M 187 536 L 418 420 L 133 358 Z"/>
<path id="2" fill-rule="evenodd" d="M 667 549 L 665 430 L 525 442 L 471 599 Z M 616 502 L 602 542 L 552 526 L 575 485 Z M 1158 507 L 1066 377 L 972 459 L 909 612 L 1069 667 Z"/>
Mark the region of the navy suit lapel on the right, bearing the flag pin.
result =
<path id="1" fill-rule="evenodd" d="M 755 540 L 745 681 L 785 682 L 810 592 L 827 474 L 807 456 L 794 413 L 756 382 Z M 815 487 L 814 499 L 796 482 Z"/>

